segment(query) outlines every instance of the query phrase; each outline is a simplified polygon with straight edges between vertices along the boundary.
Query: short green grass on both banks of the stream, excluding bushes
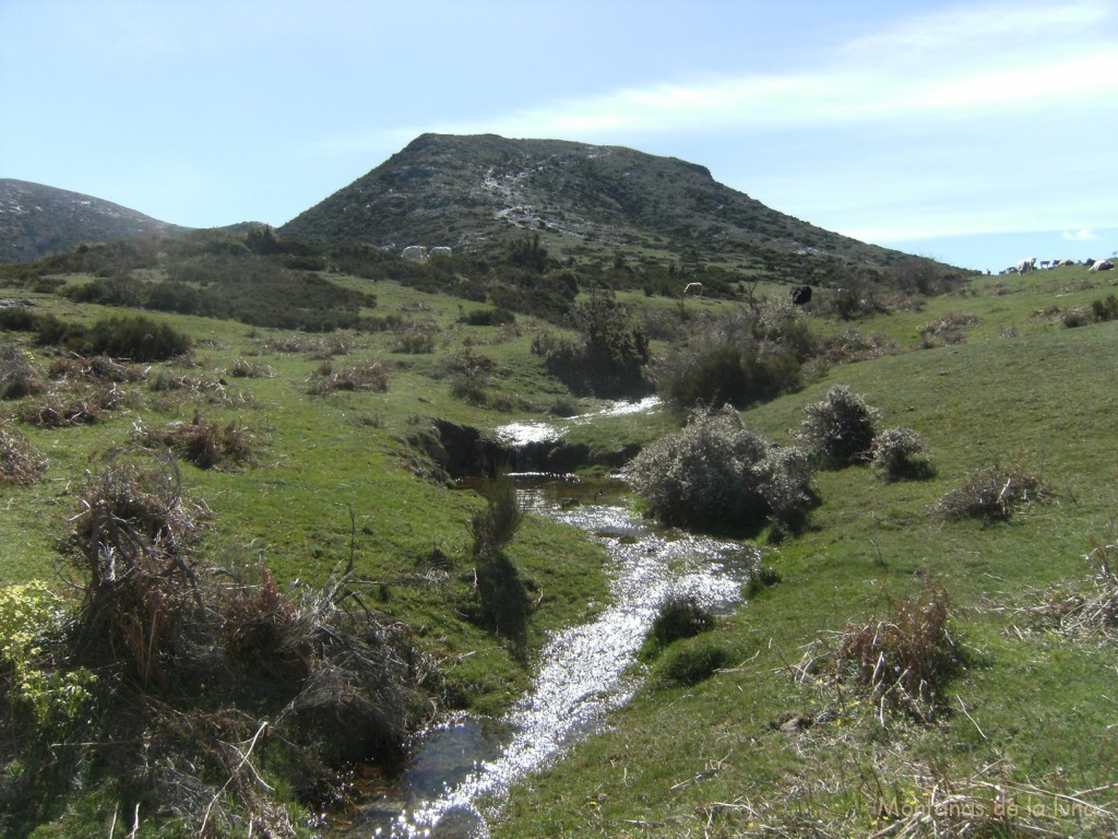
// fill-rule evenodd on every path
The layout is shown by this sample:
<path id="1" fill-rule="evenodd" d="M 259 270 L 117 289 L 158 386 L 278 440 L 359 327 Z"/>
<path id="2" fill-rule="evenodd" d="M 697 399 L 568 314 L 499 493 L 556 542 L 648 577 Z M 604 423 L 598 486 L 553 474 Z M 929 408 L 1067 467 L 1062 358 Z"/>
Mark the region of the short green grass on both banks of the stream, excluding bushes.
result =
<path id="1" fill-rule="evenodd" d="M 314 334 L 151 313 L 193 349 L 136 365 L 114 409 L 74 427 L 38 427 L 21 412 L 44 395 L 4 400 L 4 427 L 48 464 L 26 486 L 0 483 L 0 585 L 64 587 L 72 571 L 56 545 L 86 475 L 144 431 L 205 420 L 235 430 L 250 456 L 218 469 L 180 462 L 184 494 L 208 510 L 200 557 L 263 564 L 281 586 L 324 585 L 351 565 L 363 602 L 408 626 L 435 663 L 442 707 L 499 714 L 529 685 L 532 650 L 547 633 L 607 596 L 604 556 L 586 535 L 529 516 L 505 546 L 532 601 L 523 637 L 468 620 L 471 520 L 484 501 L 437 474 L 425 435 L 436 418 L 487 431 L 549 416 L 562 399 L 584 412 L 600 403 L 575 399 L 532 352 L 546 327 L 530 315 L 471 326 L 463 315 L 481 304 L 392 281 L 333 281 L 375 293 L 379 317 L 425 324 L 423 349 L 401 350 L 399 331 Z M 703 639 L 729 663 L 693 685 L 656 678 L 651 664 L 607 732 L 512 791 L 493 835 L 1112 835 L 1112 628 L 1083 637 L 1049 618 L 1052 604 L 1095 591 L 1099 555 L 1088 554 L 1118 541 L 1118 321 L 1065 326 L 1115 291 L 1111 275 L 1073 267 L 977 277 L 853 321 L 828 317 L 825 301 L 799 315 L 814 334 L 854 329 L 885 349 L 815 366 L 803 389 L 742 411 L 745 424 L 792 444 L 805 405 L 846 385 L 880 411 L 882 427 L 919 432 L 935 473 L 889 482 L 868 465 L 821 470 L 806 529 L 769 546 L 779 582 L 758 587 Z M 0 298 L 79 322 L 119 311 L 25 287 L 0 289 Z M 660 318 L 743 305 L 618 298 Z M 57 380 L 49 370 L 65 353 L 22 332 L 0 338 L 45 381 Z M 654 341 L 653 350 L 667 346 Z M 468 387 L 463 365 L 480 370 Z M 383 389 L 326 384 L 373 366 Z M 616 451 L 679 423 L 667 411 L 612 417 L 572 426 L 570 440 Z M 1034 475 L 1048 497 L 986 524 L 932 510 L 992 466 Z M 929 585 L 946 593 L 963 662 L 932 719 L 887 711 L 828 677 L 849 624 L 887 620 Z M 96 790 L 64 795 L 12 835 L 111 836 L 116 804 Z M 133 835 L 161 835 L 159 820 L 138 822 Z"/>

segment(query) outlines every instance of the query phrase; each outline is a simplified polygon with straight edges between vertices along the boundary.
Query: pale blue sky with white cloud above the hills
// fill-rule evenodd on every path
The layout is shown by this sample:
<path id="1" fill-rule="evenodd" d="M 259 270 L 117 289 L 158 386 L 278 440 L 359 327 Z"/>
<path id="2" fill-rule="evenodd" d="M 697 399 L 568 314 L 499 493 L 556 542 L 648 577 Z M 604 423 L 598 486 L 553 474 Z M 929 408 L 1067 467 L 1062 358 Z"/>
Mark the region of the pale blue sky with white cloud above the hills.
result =
<path id="1" fill-rule="evenodd" d="M 1118 0 L 0 0 L 0 177 L 197 227 L 492 132 L 968 267 L 1100 257 L 1116 103 Z"/>

